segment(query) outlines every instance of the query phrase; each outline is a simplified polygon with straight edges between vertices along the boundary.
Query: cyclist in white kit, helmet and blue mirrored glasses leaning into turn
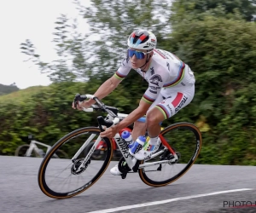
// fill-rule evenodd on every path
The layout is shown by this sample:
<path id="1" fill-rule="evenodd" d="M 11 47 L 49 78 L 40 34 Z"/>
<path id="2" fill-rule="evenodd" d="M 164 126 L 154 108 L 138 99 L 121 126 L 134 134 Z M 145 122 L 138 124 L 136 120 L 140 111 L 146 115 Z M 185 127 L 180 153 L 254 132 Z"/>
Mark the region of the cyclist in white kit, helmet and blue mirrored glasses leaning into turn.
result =
<path id="1" fill-rule="evenodd" d="M 145 131 L 148 130 L 150 137 L 148 147 L 141 148 L 134 154 L 138 160 L 147 158 L 157 151 L 160 146 L 158 140 L 160 123 L 186 107 L 195 94 L 195 76 L 189 66 L 171 52 L 156 49 L 156 43 L 157 39 L 152 32 L 146 30 L 132 32 L 127 41 L 127 58 L 122 60 L 113 77 L 102 83 L 94 94 L 99 99 L 110 94 L 126 78 L 131 69 L 137 71 L 148 82 L 148 89 L 139 106 L 119 124 L 101 133 L 102 137 L 111 138 L 119 130 L 134 123 L 131 136 L 135 141 L 139 135 L 145 135 Z M 78 109 L 88 108 L 95 102 L 84 101 Z M 138 122 L 137 119 L 144 115 L 146 115 L 146 123 Z M 121 175 L 117 165 L 110 172 L 113 175 Z"/>

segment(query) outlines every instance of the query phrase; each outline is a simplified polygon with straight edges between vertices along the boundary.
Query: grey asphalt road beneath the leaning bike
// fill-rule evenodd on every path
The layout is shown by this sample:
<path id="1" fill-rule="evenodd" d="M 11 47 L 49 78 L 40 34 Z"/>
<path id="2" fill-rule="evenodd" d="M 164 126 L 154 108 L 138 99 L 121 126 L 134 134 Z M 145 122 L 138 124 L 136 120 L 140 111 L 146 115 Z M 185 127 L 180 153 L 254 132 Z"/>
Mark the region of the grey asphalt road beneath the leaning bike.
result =
<path id="1" fill-rule="evenodd" d="M 84 193 L 71 199 L 50 199 L 38 187 L 41 161 L 0 156 L 1 213 L 256 212 L 253 166 L 195 164 L 171 185 L 148 187 L 137 174 L 128 174 L 125 180 L 112 176 L 109 169 L 116 162 L 111 162 L 102 178 Z M 241 207 L 242 201 L 254 206 Z"/>

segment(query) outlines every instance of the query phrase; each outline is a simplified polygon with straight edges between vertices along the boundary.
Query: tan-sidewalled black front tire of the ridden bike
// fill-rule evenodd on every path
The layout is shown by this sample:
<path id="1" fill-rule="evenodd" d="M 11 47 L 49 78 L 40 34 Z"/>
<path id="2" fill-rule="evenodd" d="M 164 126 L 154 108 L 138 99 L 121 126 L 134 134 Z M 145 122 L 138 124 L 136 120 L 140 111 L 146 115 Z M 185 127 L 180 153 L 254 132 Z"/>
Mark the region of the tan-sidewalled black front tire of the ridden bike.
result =
<path id="1" fill-rule="evenodd" d="M 78 189 L 69 191 L 67 193 L 57 193 L 53 190 L 51 190 L 45 181 L 45 170 L 47 168 L 47 165 L 49 164 L 49 160 L 51 159 L 51 156 L 55 153 L 56 150 L 58 150 L 59 147 L 61 147 L 62 144 L 64 144 L 69 139 L 72 139 L 76 135 L 85 134 L 86 132 L 98 132 L 100 133 L 100 129 L 97 127 L 84 127 L 79 130 L 74 130 L 73 132 L 63 136 L 59 141 L 55 143 L 53 147 L 49 150 L 49 152 L 45 155 L 42 163 L 40 164 L 39 170 L 38 170 L 38 185 L 41 189 L 41 191 L 49 196 L 52 199 L 67 199 L 71 198 L 73 196 L 78 195 L 79 193 L 83 193 L 85 190 L 87 190 L 89 187 L 91 187 L 93 184 L 96 183 L 96 181 L 99 180 L 99 178 L 103 175 L 103 173 L 107 170 L 108 164 L 111 161 L 112 154 L 113 154 L 113 148 L 112 143 L 109 141 L 108 138 L 103 138 L 107 144 L 107 155 L 106 158 L 102 164 L 102 168 L 98 171 L 96 176 L 94 176 L 90 181 L 85 182 L 83 187 L 79 187 Z"/>

